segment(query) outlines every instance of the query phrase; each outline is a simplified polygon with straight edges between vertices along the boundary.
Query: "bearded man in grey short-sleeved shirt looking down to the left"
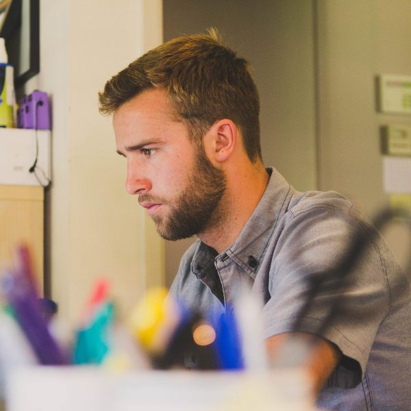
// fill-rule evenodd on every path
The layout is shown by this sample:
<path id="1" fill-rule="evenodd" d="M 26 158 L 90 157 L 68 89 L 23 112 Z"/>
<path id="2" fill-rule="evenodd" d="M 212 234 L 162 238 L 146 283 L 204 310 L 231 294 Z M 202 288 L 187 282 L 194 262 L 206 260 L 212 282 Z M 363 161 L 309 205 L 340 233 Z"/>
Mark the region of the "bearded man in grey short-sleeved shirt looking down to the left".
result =
<path id="1" fill-rule="evenodd" d="M 251 279 L 269 351 L 290 333 L 315 335 L 307 366 L 319 406 L 411 409 L 408 282 L 347 199 L 297 192 L 264 168 L 258 92 L 244 59 L 213 30 L 183 36 L 112 77 L 99 99 L 103 114 L 114 113 L 127 191 L 162 237 L 199 239 L 182 258 L 177 298 L 218 317 L 236 284 Z M 369 247 L 343 285 L 333 269 L 358 230 Z M 319 273 L 330 273 L 328 286 L 304 310 Z"/>

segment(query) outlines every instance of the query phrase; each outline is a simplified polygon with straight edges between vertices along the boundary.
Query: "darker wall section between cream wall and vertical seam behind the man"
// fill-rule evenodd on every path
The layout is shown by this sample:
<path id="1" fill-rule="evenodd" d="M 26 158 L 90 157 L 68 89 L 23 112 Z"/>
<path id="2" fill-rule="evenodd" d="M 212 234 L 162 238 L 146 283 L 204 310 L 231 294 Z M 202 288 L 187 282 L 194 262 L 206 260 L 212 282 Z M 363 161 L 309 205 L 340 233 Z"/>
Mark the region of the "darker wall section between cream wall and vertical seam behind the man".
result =
<path id="1" fill-rule="evenodd" d="M 299 190 L 316 187 L 312 1 L 164 0 L 164 40 L 216 27 L 251 62 L 264 163 Z M 192 240 L 166 242 L 166 278 Z"/>

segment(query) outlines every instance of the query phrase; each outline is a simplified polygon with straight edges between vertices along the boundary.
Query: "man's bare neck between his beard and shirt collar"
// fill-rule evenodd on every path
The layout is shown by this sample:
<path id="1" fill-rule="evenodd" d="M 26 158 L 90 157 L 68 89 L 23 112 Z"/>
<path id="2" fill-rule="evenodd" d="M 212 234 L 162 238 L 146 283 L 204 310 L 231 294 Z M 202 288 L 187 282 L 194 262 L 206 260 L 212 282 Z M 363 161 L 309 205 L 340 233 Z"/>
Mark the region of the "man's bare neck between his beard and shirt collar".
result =
<path id="1" fill-rule="evenodd" d="M 221 210 L 217 210 L 221 218 L 206 229 L 206 232 L 198 234 L 198 238 L 218 253 L 222 253 L 240 236 L 268 182 L 269 174 L 262 163 L 251 165 L 240 173 L 228 172 L 227 190 L 221 199 Z"/>

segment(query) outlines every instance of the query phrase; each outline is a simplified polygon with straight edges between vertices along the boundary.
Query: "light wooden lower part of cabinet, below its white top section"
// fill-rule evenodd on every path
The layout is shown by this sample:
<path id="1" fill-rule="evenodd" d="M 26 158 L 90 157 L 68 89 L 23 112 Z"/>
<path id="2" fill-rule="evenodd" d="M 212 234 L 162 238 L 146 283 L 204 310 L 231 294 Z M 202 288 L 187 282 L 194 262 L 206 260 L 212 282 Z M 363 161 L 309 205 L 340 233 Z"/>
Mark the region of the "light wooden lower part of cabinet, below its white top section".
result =
<path id="1" fill-rule="evenodd" d="M 0 185 L 0 267 L 12 264 L 14 247 L 25 242 L 43 289 L 44 188 Z"/>

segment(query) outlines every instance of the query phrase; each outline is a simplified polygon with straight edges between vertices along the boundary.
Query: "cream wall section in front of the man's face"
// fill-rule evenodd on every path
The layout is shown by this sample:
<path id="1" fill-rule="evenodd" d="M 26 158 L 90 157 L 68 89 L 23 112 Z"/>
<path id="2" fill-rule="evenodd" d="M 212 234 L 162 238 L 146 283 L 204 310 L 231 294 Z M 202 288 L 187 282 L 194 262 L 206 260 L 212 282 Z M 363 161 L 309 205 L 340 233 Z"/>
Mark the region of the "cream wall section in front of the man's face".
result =
<path id="1" fill-rule="evenodd" d="M 107 79 L 162 42 L 161 21 L 157 0 L 40 2 L 40 74 L 26 92 L 39 88 L 52 100 L 46 270 L 48 292 L 69 321 L 101 276 L 123 310 L 162 283 L 162 240 L 125 192 L 126 164 L 97 106 Z"/>

